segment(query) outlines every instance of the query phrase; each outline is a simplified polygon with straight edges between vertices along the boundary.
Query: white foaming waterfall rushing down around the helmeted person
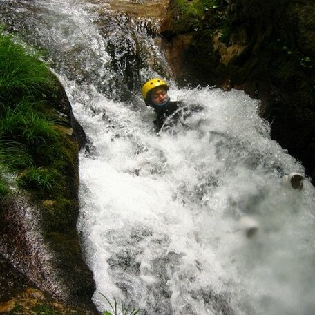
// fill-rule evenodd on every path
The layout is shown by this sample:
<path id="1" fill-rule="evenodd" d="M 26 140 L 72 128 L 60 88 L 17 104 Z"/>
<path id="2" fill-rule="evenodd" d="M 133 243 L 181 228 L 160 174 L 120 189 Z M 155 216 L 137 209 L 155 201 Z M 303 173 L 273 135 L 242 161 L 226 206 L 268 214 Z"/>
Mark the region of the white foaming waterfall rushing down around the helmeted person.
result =
<path id="1" fill-rule="evenodd" d="M 281 184 L 303 166 L 270 140 L 259 102 L 173 83 L 171 99 L 203 110 L 157 135 L 139 93 L 169 78 L 154 21 L 99 2 L 0 1 L 1 20 L 46 50 L 88 137 L 78 229 L 97 291 L 142 314 L 314 314 L 314 187 Z"/>

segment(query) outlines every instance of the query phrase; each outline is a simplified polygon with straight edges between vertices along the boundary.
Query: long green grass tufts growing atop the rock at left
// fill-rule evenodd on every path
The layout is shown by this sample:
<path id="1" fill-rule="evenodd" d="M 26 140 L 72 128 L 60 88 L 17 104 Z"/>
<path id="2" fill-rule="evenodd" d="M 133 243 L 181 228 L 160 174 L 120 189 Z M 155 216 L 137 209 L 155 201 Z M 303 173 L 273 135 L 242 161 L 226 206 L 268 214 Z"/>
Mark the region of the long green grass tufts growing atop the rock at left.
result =
<path id="1" fill-rule="evenodd" d="M 6 178 L 17 178 L 21 188 L 51 190 L 60 175 L 46 153 L 58 155 L 61 135 L 49 106 L 58 85 L 39 57 L 0 29 L 0 199 L 10 194 Z"/>

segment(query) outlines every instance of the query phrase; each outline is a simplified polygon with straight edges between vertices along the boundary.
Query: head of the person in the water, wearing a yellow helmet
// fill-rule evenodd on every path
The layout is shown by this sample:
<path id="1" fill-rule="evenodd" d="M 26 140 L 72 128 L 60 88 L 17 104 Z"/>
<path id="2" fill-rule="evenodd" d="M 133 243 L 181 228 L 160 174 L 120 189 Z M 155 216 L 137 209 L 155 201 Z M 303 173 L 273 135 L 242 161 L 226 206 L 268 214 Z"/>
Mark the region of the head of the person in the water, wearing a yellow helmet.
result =
<path id="1" fill-rule="evenodd" d="M 142 96 L 146 105 L 161 105 L 169 100 L 169 86 L 162 79 L 155 77 L 142 86 Z"/>

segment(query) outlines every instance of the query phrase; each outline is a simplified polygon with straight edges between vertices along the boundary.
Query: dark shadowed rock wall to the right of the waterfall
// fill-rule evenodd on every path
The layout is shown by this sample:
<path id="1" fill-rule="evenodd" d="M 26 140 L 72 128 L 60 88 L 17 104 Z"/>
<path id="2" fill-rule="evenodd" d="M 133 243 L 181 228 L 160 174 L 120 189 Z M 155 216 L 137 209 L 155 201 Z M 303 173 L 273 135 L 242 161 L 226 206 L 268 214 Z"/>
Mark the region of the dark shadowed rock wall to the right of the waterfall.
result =
<path id="1" fill-rule="evenodd" d="M 237 88 L 260 99 L 271 137 L 303 162 L 313 182 L 314 15 L 312 0 L 217 0 L 207 5 L 171 0 L 161 28 L 179 84 Z"/>

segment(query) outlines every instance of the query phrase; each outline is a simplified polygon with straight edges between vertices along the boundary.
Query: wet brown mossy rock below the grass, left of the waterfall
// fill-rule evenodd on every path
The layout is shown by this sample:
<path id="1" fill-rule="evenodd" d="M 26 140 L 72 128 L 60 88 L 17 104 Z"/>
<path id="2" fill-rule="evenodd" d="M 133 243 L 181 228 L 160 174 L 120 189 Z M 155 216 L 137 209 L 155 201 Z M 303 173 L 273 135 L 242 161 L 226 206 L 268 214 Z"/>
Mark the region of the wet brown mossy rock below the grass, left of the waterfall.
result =
<path id="1" fill-rule="evenodd" d="M 21 294 L 25 287 L 37 287 L 66 305 L 96 313 L 91 301 L 95 292 L 93 274 L 84 262 L 76 228 L 78 142 L 83 145 L 85 136 L 57 79 L 56 85 L 57 95 L 47 95 L 46 104 L 56 113 L 59 137 L 50 147 L 53 152 L 43 152 L 38 159 L 62 175 L 51 191 L 15 191 L 1 200 L 0 253 L 27 280 L 22 279 L 26 283 L 20 283 L 20 287 L 8 287 L 0 301 L 8 301 L 12 292 Z"/>

